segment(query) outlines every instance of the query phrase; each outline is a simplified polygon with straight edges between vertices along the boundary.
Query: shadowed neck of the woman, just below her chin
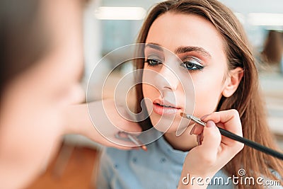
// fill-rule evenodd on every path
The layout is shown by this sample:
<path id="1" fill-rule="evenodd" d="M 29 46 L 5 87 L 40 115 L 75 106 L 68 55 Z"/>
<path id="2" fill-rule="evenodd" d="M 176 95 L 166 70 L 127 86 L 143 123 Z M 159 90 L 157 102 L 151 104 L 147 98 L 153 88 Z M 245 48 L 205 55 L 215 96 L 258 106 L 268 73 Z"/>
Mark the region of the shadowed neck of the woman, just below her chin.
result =
<path id="1" fill-rule="evenodd" d="M 190 135 L 190 130 L 192 130 L 192 126 L 187 127 L 180 136 L 176 136 L 175 132 L 166 132 L 164 134 L 164 138 L 169 144 L 171 144 L 173 149 L 189 151 L 193 147 L 197 146 L 197 137 L 195 134 Z"/>

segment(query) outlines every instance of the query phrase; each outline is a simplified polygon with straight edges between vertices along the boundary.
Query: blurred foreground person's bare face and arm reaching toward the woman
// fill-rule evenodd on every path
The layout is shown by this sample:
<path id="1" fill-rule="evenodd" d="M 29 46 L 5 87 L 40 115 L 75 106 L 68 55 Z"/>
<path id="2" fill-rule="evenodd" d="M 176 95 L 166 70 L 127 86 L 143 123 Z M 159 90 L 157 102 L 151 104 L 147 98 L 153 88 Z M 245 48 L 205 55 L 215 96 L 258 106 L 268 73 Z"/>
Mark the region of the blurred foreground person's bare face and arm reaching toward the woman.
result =
<path id="1" fill-rule="evenodd" d="M 83 73 L 82 8 L 80 1 L 42 1 L 40 9 L 52 46 L 33 67 L 18 74 L 1 96 L 0 181 L 1 188 L 23 188 L 45 171 L 57 151 L 63 134 L 77 133 L 95 142 L 120 149 L 132 149 L 110 142 L 118 131 L 112 124 L 104 137 L 88 117 L 80 87 Z M 102 102 L 90 103 L 102 117 Z M 104 108 L 122 130 L 139 132 L 115 112 L 113 101 Z M 108 118 L 104 116 L 106 120 Z M 100 119 L 100 124 L 105 123 Z M 109 122 L 109 121 L 108 121 Z M 126 145 L 126 144 L 125 144 Z M 132 144 L 133 146 L 133 144 Z"/>

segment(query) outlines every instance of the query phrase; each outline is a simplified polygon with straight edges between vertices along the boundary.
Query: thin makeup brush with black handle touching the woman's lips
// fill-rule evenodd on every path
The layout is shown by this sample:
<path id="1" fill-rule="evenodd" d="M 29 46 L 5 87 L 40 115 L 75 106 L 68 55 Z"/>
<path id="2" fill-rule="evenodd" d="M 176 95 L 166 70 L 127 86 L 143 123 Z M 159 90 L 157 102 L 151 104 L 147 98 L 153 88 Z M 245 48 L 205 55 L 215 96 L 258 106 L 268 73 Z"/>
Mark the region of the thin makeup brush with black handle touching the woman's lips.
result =
<path id="1" fill-rule="evenodd" d="M 206 122 L 203 122 L 202 120 L 200 120 L 200 118 L 196 118 L 195 116 L 193 115 L 189 115 L 189 114 L 186 114 L 186 113 L 180 113 L 180 115 L 183 117 L 183 118 L 187 118 L 189 120 L 192 120 L 202 126 L 205 126 L 206 125 Z M 225 137 L 229 137 L 230 139 L 234 139 L 238 142 L 241 142 L 249 147 L 252 147 L 253 149 L 257 149 L 258 151 L 262 151 L 264 152 L 265 154 L 269 154 L 271 156 L 274 156 L 276 157 L 277 159 L 282 159 L 283 160 L 283 154 L 280 153 L 279 151 L 275 151 L 273 149 L 270 149 L 268 147 L 265 147 L 265 146 L 262 146 L 261 144 L 257 143 L 257 142 L 253 142 L 249 139 L 246 139 L 244 137 L 240 137 L 238 136 L 237 134 L 233 134 L 233 132 L 229 132 L 228 130 L 224 130 L 222 129 L 221 127 L 218 127 L 220 133 L 225 136 Z"/>

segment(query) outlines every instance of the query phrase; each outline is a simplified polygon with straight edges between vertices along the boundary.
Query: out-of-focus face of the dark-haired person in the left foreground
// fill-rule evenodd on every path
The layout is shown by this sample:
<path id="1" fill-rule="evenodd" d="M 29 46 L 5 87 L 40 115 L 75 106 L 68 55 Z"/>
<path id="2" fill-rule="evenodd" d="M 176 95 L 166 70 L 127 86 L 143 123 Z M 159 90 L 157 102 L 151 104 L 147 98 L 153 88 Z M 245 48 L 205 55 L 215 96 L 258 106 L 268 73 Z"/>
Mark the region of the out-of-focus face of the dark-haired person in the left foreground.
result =
<path id="1" fill-rule="evenodd" d="M 6 162 L 8 168 L 17 168 L 18 183 L 45 166 L 58 146 L 63 108 L 83 100 L 81 3 L 43 2 L 52 49 L 13 79 L 1 99 L 0 154 L 11 160 Z"/>

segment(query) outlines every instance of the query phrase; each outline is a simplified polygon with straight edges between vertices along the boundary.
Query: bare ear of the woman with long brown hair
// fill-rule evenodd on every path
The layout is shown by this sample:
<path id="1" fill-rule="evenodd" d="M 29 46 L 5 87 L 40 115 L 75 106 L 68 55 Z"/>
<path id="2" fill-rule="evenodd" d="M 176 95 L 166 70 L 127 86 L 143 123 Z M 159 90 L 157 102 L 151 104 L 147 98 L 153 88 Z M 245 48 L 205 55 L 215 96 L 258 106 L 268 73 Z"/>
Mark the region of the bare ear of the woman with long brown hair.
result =
<path id="1" fill-rule="evenodd" d="M 243 77 L 243 68 L 237 67 L 236 69 L 232 69 L 229 71 L 229 76 L 226 79 L 224 90 L 222 91 L 222 95 L 226 98 L 230 97 L 235 93 L 238 88 L 238 85 L 241 82 Z"/>

